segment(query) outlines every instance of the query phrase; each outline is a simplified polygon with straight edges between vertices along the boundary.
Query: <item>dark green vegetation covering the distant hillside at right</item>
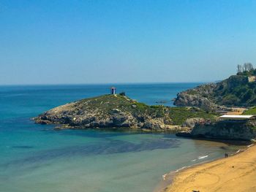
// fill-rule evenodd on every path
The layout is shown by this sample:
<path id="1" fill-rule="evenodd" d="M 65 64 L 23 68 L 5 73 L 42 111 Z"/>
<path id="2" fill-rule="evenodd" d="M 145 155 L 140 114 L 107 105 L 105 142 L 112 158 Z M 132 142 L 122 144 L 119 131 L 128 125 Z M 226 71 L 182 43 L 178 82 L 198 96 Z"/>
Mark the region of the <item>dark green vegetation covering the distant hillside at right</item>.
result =
<path id="1" fill-rule="evenodd" d="M 249 82 L 246 73 L 256 74 L 256 69 L 240 72 L 238 75 L 232 75 L 215 84 L 200 85 L 185 91 L 185 93 L 197 96 L 198 99 L 207 98 L 211 103 L 227 107 L 253 107 L 256 106 L 256 82 L 253 81 L 253 78 Z"/>

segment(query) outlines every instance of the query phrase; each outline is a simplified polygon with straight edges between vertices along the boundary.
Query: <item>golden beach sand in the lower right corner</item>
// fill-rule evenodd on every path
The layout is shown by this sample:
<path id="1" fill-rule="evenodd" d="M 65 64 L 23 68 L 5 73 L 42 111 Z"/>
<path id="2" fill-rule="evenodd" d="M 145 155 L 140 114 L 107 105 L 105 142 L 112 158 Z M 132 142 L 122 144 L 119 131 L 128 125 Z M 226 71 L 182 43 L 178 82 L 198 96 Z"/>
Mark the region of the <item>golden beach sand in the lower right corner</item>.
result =
<path id="1" fill-rule="evenodd" d="M 178 172 L 167 192 L 256 191 L 256 146 Z"/>

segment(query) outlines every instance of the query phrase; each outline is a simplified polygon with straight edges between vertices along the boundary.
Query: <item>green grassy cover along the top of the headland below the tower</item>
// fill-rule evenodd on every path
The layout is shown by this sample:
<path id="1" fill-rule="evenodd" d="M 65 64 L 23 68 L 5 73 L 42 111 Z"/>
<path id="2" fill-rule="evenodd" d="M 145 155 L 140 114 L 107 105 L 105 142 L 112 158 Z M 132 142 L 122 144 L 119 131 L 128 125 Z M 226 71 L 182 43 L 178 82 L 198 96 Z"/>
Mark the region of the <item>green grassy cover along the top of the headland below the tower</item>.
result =
<path id="1" fill-rule="evenodd" d="M 120 94 L 98 96 L 91 99 L 83 99 L 78 101 L 80 108 L 83 105 L 89 107 L 90 110 L 100 109 L 105 113 L 112 113 L 113 109 L 124 112 L 130 112 L 132 115 L 149 115 L 152 118 L 169 117 L 174 125 L 181 125 L 187 118 L 205 118 L 214 120 L 216 115 L 205 112 L 197 107 L 165 107 L 162 105 L 149 106 L 140 103 L 127 96 Z"/>

